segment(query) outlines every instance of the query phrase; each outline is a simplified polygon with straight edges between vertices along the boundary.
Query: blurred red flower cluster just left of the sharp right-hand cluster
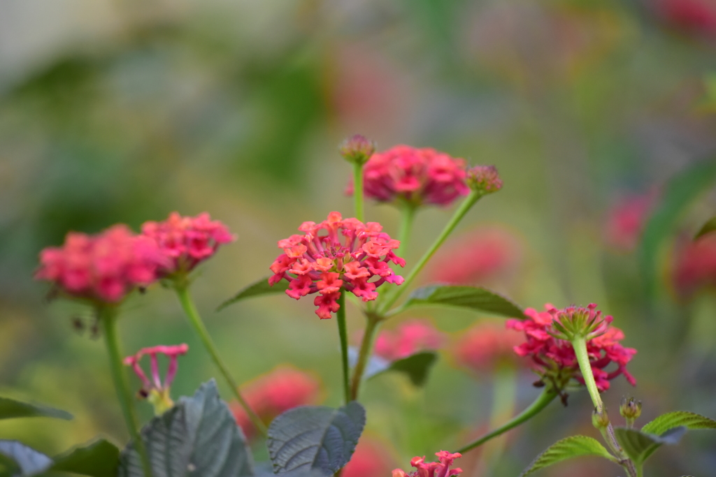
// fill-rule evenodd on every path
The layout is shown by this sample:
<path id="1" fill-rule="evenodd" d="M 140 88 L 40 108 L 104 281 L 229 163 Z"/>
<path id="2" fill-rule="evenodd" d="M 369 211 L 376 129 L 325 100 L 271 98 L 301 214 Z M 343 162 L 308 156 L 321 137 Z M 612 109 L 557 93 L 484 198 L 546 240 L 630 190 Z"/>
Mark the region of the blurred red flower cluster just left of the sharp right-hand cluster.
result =
<path id="1" fill-rule="evenodd" d="M 455 362 L 477 373 L 492 372 L 498 365 L 515 364 L 514 348 L 523 339 L 505 330 L 502 323 L 485 321 L 470 328 L 453 347 Z"/>

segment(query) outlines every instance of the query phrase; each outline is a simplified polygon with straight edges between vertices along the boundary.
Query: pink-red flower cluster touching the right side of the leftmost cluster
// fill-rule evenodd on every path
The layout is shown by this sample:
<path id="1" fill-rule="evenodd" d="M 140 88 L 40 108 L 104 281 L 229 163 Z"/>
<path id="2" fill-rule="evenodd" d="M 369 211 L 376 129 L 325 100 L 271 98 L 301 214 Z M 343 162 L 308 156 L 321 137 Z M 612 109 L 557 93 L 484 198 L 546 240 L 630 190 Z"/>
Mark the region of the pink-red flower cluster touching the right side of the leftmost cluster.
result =
<path id="1" fill-rule="evenodd" d="M 207 212 L 196 217 L 172 212 L 163 222 L 144 222 L 142 235 L 153 239 L 167 257 L 167 265 L 160 270 L 163 276 L 190 272 L 214 255 L 219 245 L 236 240 L 226 225 L 211 220 Z"/>

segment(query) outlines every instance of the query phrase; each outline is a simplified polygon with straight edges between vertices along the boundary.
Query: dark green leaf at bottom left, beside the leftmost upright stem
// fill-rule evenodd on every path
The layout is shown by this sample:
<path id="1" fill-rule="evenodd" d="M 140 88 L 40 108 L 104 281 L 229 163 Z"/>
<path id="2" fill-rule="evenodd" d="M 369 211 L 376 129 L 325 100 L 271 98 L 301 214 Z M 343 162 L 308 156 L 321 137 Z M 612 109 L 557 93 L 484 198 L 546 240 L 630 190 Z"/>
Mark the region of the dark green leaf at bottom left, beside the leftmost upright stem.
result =
<path id="1" fill-rule="evenodd" d="M 119 463 L 120 450 L 117 446 L 100 439 L 55 457 L 50 470 L 91 477 L 115 477 Z"/>

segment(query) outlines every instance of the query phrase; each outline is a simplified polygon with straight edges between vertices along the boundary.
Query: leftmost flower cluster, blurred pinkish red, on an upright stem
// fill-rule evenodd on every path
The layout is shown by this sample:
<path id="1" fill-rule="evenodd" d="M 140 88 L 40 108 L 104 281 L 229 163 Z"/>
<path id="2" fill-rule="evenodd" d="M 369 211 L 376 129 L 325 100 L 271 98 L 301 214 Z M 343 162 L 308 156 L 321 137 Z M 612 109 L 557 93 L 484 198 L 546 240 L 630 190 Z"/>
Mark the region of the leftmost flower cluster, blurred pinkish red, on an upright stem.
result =
<path id="1" fill-rule="evenodd" d="M 156 279 L 166 259 L 153 240 L 113 225 L 97 235 L 69 232 L 62 247 L 40 252 L 39 280 L 49 280 L 74 297 L 120 302 L 135 287 Z"/>

